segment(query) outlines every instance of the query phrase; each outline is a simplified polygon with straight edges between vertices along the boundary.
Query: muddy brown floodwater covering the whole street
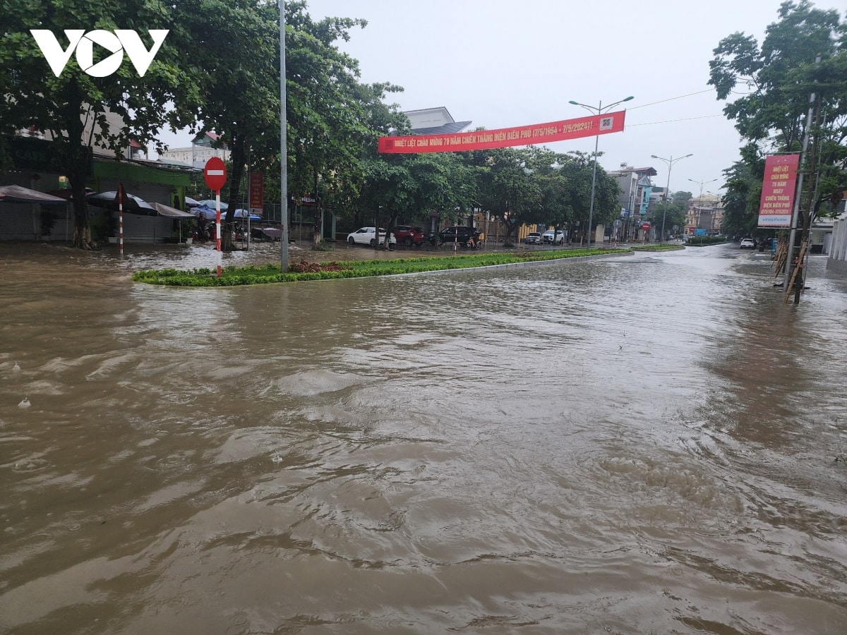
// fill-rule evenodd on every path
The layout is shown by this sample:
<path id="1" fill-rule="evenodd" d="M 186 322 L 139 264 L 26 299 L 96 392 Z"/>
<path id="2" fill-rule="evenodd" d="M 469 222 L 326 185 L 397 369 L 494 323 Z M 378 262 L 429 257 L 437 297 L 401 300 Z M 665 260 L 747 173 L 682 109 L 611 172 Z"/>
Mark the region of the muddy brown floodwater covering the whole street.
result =
<path id="1" fill-rule="evenodd" d="M 0 246 L 0 632 L 847 632 L 822 257 L 130 281 L 216 257 Z"/>

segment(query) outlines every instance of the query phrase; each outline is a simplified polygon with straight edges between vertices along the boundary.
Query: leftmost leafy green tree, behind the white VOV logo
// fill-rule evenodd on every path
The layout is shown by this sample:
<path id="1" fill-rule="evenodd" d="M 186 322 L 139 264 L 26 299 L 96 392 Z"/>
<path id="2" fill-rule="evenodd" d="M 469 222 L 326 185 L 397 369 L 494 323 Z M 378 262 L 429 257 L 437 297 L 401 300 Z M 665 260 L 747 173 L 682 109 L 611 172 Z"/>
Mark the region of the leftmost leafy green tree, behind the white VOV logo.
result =
<path id="1" fill-rule="evenodd" d="M 197 92 L 197 85 L 180 66 L 181 25 L 174 19 L 172 5 L 153 0 L 30 0 L 3 3 L 2 14 L 0 137 L 31 129 L 53 141 L 54 160 L 73 192 L 74 246 L 91 249 L 85 188 L 95 141 L 116 156 L 130 146 L 130 140 L 142 146 L 155 143 L 169 102 Z M 31 29 L 52 31 L 65 50 L 70 45 L 65 29 L 134 29 L 148 50 L 153 46 L 148 29 L 170 33 L 143 76 L 125 60 L 113 75 L 92 77 L 71 54 L 57 77 L 30 35 Z M 95 47 L 93 62 L 109 55 L 106 51 L 100 57 Z M 119 117 L 119 127 L 109 126 L 108 113 Z M 178 114 L 172 116 L 174 121 L 180 119 Z"/>

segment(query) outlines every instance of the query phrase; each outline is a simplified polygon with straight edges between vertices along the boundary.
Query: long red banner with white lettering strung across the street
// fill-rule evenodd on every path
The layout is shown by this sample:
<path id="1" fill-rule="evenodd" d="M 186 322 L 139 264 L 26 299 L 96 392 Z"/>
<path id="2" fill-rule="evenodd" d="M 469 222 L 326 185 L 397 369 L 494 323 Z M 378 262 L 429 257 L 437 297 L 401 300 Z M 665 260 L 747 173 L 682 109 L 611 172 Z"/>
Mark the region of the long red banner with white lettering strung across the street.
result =
<path id="1" fill-rule="evenodd" d="M 379 152 L 412 154 L 416 152 L 466 152 L 495 147 L 530 146 L 553 141 L 607 135 L 623 131 L 625 110 L 595 114 L 580 119 L 551 121 L 549 124 L 522 125 L 518 128 L 475 130 L 451 135 L 381 136 Z"/>

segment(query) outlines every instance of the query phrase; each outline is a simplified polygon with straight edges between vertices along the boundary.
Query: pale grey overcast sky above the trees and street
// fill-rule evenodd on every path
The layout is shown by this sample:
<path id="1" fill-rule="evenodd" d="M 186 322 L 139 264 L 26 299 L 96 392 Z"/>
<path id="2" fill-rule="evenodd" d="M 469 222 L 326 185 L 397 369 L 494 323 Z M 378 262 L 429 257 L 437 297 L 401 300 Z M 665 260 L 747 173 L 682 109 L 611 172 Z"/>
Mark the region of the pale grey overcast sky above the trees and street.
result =
<path id="1" fill-rule="evenodd" d="M 818 8 L 833 8 L 820 0 Z M 599 139 L 600 165 L 656 168 L 655 185 L 700 193 L 723 184 L 739 135 L 707 86 L 712 50 L 736 31 L 756 37 L 777 21 L 780 0 L 308 0 L 313 19 L 363 18 L 341 50 L 361 80 L 390 81 L 403 110 L 443 106 L 468 130 L 542 124 L 589 114 L 634 96 L 626 130 Z M 618 110 L 619 108 L 613 108 Z M 183 136 L 178 145 L 188 145 Z M 175 140 L 174 140 L 175 141 Z M 174 141 L 168 141 L 174 146 Z M 595 137 L 550 144 L 593 152 Z"/>

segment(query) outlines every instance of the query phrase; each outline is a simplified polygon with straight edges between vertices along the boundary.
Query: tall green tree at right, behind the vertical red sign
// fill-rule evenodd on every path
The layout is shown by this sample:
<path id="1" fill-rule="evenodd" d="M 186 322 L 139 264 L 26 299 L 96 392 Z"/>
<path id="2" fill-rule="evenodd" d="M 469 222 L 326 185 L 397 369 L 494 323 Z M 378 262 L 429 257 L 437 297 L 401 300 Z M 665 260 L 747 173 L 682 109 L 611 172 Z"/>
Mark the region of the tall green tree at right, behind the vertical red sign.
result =
<path id="1" fill-rule="evenodd" d="M 728 228 L 749 228 L 756 216 L 765 155 L 800 152 L 808 137 L 804 191 L 796 194 L 806 235 L 812 218 L 833 209 L 847 189 L 847 24 L 835 9 L 807 0 L 783 2 L 778 17 L 761 47 L 744 33 L 724 38 L 714 49 L 709 83 L 718 99 L 744 90 L 724 108 L 745 140 L 745 165 L 724 172 Z"/>

